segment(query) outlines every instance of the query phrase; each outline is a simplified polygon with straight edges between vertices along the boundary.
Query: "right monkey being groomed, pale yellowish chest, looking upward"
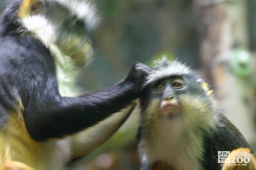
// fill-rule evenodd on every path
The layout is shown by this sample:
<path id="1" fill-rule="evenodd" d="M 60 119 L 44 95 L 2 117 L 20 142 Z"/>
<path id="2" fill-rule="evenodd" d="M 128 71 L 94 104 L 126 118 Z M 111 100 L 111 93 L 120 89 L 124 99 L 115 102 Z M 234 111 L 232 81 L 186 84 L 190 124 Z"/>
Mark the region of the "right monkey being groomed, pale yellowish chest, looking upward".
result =
<path id="1" fill-rule="evenodd" d="M 140 170 L 221 170 L 217 151 L 250 148 L 208 85 L 177 61 L 156 62 L 140 108 Z"/>

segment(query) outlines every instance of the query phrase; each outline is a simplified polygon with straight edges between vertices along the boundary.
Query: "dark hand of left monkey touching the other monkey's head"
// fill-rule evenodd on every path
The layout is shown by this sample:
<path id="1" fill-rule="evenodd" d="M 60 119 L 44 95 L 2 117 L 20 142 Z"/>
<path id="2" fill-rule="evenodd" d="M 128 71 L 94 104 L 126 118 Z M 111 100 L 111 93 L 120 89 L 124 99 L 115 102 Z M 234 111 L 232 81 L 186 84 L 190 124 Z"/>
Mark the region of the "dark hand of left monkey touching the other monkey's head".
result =
<path id="1" fill-rule="evenodd" d="M 146 76 L 148 76 L 151 70 L 152 68 L 149 66 L 136 62 L 124 82 L 131 83 L 135 85 L 136 89 L 140 90 L 141 85 L 143 85 Z"/>

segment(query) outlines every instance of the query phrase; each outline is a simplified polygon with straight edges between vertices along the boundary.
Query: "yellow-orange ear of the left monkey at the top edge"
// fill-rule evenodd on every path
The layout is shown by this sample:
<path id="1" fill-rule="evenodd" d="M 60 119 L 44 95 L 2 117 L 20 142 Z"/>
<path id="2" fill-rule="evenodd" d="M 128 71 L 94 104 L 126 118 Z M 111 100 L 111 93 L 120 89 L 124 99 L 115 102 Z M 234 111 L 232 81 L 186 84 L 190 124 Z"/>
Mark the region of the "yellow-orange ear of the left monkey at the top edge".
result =
<path id="1" fill-rule="evenodd" d="M 40 0 L 23 0 L 18 11 L 20 18 L 29 17 L 31 14 L 38 14 L 43 6 Z"/>

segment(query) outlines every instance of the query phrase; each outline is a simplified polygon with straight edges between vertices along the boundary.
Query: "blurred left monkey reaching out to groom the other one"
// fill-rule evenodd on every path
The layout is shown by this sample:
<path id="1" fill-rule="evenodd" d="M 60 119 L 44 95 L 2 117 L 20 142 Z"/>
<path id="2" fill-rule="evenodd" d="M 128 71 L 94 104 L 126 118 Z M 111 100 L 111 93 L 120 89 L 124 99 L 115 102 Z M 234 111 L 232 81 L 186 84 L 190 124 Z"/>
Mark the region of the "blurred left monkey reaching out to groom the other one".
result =
<path id="1" fill-rule="evenodd" d="M 0 170 L 65 170 L 107 140 L 135 106 L 145 65 L 79 97 L 76 61 L 92 53 L 89 0 L 9 0 L 0 16 Z"/>

